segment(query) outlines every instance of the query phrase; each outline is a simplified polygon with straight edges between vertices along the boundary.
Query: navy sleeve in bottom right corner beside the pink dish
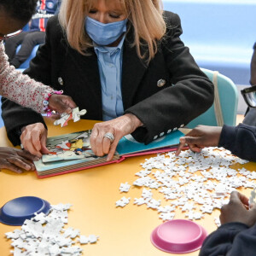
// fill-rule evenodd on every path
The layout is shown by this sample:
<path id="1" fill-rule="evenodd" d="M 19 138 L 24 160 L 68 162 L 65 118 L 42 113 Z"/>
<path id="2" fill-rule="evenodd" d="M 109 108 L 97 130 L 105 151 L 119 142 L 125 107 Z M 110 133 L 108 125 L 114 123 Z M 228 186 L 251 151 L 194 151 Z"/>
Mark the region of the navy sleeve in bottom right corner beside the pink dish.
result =
<path id="1" fill-rule="evenodd" d="M 204 241 L 199 256 L 255 256 L 256 225 L 224 224 Z"/>

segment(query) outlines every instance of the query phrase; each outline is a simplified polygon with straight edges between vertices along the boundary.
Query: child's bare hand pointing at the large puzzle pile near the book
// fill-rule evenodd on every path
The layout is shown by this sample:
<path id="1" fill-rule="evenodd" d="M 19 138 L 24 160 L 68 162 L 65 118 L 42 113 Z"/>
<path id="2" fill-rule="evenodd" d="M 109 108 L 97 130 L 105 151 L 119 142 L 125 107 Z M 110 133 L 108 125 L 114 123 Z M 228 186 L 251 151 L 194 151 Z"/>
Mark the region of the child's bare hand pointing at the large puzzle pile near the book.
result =
<path id="1" fill-rule="evenodd" d="M 222 127 L 198 125 L 192 131 L 189 131 L 185 137 L 179 139 L 176 155 L 187 144 L 194 152 L 200 152 L 201 148 L 217 147 Z"/>

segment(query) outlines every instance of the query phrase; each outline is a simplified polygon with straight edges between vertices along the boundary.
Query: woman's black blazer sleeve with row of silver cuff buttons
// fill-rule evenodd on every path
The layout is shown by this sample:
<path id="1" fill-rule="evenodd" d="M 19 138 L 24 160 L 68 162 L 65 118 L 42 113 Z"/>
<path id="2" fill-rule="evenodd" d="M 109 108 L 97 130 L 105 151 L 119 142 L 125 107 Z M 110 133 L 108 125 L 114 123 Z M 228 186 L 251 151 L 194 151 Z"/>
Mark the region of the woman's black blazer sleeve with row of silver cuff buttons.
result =
<path id="1" fill-rule="evenodd" d="M 142 102 L 128 108 L 143 122 L 144 127 L 132 133 L 138 141 L 150 143 L 155 135 L 180 126 L 207 111 L 213 102 L 213 85 L 195 63 L 180 39 L 182 27 L 179 16 L 166 13 L 166 37 L 160 51 L 164 55 L 166 68 L 173 86 L 160 90 Z M 152 60 L 154 61 L 154 59 Z"/>

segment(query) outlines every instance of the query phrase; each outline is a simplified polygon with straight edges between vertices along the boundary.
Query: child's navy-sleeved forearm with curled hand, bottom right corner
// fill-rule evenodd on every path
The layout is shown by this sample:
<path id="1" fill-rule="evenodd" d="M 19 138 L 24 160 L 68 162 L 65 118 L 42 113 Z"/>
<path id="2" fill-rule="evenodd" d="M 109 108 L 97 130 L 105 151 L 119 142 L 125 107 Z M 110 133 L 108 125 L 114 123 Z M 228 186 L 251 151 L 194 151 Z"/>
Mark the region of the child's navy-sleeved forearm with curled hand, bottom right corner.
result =
<path id="1" fill-rule="evenodd" d="M 255 256 L 256 205 L 237 191 L 230 195 L 220 214 L 221 226 L 204 241 L 199 256 Z"/>

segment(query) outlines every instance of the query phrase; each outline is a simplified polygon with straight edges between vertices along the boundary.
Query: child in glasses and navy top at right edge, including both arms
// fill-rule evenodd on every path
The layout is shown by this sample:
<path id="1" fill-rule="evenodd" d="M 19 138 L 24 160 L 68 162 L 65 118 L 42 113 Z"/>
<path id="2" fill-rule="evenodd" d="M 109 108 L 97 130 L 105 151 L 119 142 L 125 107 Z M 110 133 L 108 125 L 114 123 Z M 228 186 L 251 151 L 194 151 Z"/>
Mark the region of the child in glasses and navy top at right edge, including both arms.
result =
<path id="1" fill-rule="evenodd" d="M 254 49 L 256 44 L 254 44 Z M 251 63 L 251 84 L 256 84 L 256 52 Z M 253 89 L 253 87 L 252 87 Z M 255 90 L 255 89 L 253 89 Z M 250 100 L 256 105 L 255 92 Z M 245 96 L 247 102 L 247 96 Z M 247 102 L 248 104 L 248 102 Z M 252 112 L 253 110 L 253 112 Z M 256 124 L 256 108 L 251 108 Z M 250 118 L 252 118 L 252 116 Z M 251 119 L 252 121 L 252 119 Z M 177 155 L 185 144 L 195 152 L 205 147 L 224 147 L 245 160 L 256 161 L 256 127 L 240 124 L 236 127 L 224 125 L 199 125 L 185 137 L 180 138 Z M 256 255 L 256 205 L 248 205 L 246 196 L 234 191 L 229 204 L 221 209 L 221 226 L 204 241 L 199 256 L 255 256 Z"/>

